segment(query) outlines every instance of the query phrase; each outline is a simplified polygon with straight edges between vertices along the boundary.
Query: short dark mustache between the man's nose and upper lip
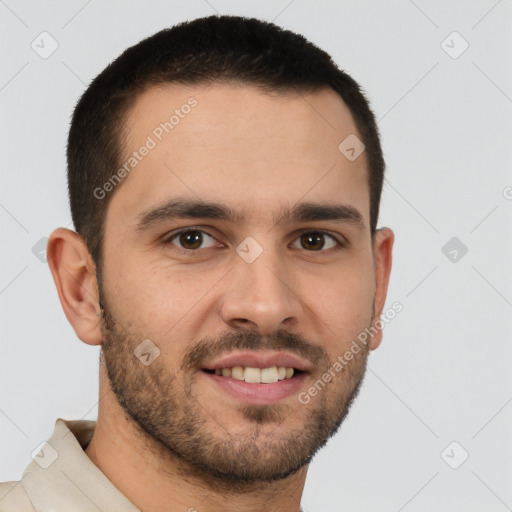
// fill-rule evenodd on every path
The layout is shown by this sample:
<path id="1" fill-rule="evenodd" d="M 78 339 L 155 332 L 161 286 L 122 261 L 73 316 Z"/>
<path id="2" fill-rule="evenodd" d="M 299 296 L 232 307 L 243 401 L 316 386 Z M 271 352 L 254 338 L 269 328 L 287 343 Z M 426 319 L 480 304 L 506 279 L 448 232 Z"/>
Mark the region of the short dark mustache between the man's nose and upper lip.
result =
<path id="1" fill-rule="evenodd" d="M 236 331 L 198 342 L 183 358 L 181 369 L 201 369 L 207 358 L 218 357 L 238 350 L 275 350 L 295 354 L 313 363 L 315 367 L 328 368 L 331 361 L 326 350 L 307 341 L 300 334 L 278 329 L 264 336 L 255 331 Z"/>

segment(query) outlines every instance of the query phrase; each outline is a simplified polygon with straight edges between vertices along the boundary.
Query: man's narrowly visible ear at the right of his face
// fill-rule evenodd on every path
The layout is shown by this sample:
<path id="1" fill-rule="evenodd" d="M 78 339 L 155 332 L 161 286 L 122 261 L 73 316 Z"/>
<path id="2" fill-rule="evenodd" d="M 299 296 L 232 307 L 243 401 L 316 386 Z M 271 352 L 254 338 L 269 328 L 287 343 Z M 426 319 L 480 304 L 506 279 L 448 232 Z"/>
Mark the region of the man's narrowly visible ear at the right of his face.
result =
<path id="1" fill-rule="evenodd" d="M 373 258 L 375 264 L 375 299 L 373 303 L 374 317 L 372 326 L 378 331 L 370 340 L 370 349 L 375 350 L 382 341 L 382 325 L 376 325 L 384 310 L 388 293 L 389 275 L 391 274 L 392 251 L 395 235 L 389 228 L 381 228 L 375 232 L 373 241 Z M 379 322 L 380 324 L 381 322 Z"/>

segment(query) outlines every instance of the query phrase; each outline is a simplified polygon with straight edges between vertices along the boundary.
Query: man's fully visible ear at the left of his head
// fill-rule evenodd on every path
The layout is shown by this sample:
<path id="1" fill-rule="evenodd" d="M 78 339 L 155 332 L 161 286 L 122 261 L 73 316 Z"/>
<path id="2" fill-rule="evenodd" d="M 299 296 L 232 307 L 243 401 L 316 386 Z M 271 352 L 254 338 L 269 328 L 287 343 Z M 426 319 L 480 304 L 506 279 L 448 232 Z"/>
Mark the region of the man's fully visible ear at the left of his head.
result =
<path id="1" fill-rule="evenodd" d="M 96 266 L 84 240 L 75 231 L 58 228 L 50 235 L 46 256 L 68 322 L 84 343 L 100 345 Z"/>

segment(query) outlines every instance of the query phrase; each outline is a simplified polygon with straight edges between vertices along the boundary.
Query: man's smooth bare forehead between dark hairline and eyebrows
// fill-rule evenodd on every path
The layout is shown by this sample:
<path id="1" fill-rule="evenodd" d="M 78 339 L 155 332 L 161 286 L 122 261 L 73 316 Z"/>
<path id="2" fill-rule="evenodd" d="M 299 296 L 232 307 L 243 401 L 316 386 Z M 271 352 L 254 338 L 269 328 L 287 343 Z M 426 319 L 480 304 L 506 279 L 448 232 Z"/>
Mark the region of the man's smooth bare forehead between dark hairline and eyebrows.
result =
<path id="1" fill-rule="evenodd" d="M 334 91 L 166 85 L 141 94 L 125 123 L 121 164 L 137 161 L 112 197 L 116 216 L 134 221 L 173 196 L 188 196 L 262 218 L 301 199 L 344 202 L 368 222 L 365 155 L 350 161 L 338 149 L 359 134 Z"/>

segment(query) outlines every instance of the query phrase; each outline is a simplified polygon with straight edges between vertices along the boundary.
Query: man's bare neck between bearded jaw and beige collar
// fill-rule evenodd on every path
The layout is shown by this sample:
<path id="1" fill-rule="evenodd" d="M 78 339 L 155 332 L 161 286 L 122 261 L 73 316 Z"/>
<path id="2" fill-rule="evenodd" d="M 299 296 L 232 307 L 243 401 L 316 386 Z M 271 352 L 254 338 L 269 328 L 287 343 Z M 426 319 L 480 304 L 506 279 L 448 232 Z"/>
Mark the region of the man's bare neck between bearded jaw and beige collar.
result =
<path id="1" fill-rule="evenodd" d="M 101 373 L 101 372 L 100 372 Z M 276 482 L 230 485 L 200 478 L 195 468 L 140 431 L 128 418 L 104 376 L 93 438 L 85 453 L 144 512 L 300 512 L 307 466 Z"/>

